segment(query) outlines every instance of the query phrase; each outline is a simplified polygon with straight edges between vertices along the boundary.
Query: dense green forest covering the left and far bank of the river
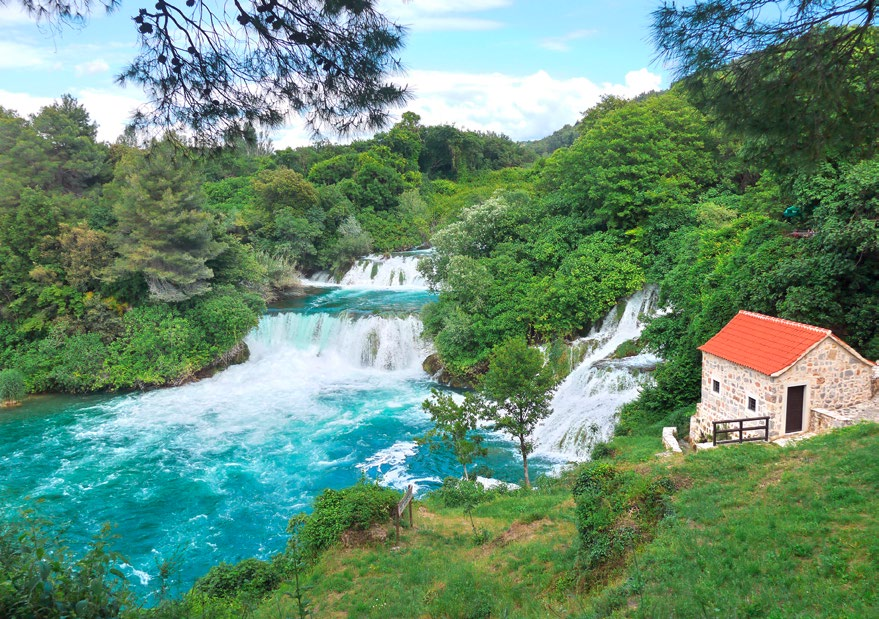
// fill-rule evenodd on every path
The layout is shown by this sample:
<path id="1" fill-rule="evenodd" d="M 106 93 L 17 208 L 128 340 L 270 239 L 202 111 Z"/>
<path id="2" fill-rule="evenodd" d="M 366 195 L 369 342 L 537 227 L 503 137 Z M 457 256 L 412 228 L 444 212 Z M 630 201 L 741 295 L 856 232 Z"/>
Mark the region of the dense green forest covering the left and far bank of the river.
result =
<path id="1" fill-rule="evenodd" d="M 370 140 L 278 152 L 256 135 L 107 145 L 96 129 L 71 97 L 27 119 L 0 110 L 0 370 L 32 392 L 223 367 L 300 273 L 426 244 L 535 157 L 414 114 Z"/>

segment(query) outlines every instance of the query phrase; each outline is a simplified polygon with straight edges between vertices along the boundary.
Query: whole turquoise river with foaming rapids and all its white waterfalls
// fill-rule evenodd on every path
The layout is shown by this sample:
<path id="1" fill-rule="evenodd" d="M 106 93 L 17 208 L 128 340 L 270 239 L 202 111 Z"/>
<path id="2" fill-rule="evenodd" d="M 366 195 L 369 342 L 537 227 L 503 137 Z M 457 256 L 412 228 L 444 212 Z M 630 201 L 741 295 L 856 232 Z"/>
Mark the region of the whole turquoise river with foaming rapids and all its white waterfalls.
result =
<path id="1" fill-rule="evenodd" d="M 287 519 L 324 488 L 362 474 L 425 488 L 460 474 L 450 454 L 415 442 L 430 426 L 421 403 L 437 387 L 421 369 L 430 345 L 417 311 L 433 296 L 413 275 L 416 261 L 378 260 L 374 278 L 372 266 L 355 265 L 343 280 L 350 285 L 280 302 L 247 337 L 250 359 L 210 379 L 127 395 L 37 397 L 4 412 L 0 510 L 41 499 L 40 512 L 65 525 L 78 548 L 114 523 L 114 547 L 146 593 L 165 559 L 179 559 L 185 587 L 220 561 L 282 549 Z M 592 334 L 592 354 L 539 429 L 535 474 L 582 458 L 584 428 L 601 426 L 586 432 L 590 440 L 606 436 L 615 408 L 637 393 L 637 378 L 626 382 L 628 374 L 597 362 L 637 336 L 646 299 L 636 295 L 620 319 Z M 486 444 L 495 476 L 518 481 L 513 443 L 487 433 Z"/>

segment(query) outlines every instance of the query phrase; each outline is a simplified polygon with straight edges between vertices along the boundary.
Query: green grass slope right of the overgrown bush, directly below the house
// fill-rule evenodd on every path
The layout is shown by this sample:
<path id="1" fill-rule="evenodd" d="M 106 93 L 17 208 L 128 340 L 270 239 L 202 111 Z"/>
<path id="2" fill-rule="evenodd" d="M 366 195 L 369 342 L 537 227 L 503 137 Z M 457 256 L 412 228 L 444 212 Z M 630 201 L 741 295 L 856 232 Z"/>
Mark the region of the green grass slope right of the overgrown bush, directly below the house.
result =
<path id="1" fill-rule="evenodd" d="M 673 514 L 584 616 L 879 617 L 879 425 L 669 472 Z"/>

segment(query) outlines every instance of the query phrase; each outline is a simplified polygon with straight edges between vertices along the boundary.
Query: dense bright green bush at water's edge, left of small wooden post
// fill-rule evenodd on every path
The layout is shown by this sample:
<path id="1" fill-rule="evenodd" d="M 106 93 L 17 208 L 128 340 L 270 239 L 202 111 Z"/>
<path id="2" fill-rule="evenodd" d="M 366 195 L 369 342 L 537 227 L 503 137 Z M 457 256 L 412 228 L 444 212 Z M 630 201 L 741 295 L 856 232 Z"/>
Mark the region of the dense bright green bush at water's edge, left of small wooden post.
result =
<path id="1" fill-rule="evenodd" d="M 329 548 L 348 530 L 365 531 L 388 522 L 400 493 L 361 480 L 342 490 L 324 490 L 314 501 L 314 511 L 299 530 L 299 543 L 312 558 Z M 299 517 L 294 516 L 298 522 Z"/>

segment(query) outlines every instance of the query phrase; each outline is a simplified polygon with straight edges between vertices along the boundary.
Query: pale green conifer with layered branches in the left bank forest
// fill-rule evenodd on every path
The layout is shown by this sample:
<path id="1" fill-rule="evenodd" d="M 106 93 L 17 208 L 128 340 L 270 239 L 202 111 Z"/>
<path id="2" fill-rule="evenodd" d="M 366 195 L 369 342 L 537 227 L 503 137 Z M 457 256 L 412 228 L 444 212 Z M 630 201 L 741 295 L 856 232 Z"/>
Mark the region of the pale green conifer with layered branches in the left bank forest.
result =
<path id="1" fill-rule="evenodd" d="M 214 240 L 198 176 L 184 153 L 167 141 L 147 154 L 129 151 L 114 184 L 115 275 L 142 275 L 150 295 L 163 301 L 209 290 L 214 274 L 206 262 L 223 246 Z"/>

